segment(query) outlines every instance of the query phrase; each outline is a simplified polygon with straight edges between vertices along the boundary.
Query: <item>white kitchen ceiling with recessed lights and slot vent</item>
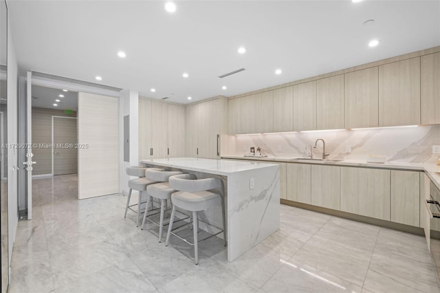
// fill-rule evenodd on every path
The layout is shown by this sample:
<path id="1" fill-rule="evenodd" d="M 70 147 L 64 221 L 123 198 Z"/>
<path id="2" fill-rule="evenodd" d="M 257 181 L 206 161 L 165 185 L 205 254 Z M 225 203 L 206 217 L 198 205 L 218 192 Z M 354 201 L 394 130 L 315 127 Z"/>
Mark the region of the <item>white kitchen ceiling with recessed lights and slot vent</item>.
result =
<path id="1" fill-rule="evenodd" d="M 181 103 L 440 45 L 440 1 L 177 1 L 169 14 L 164 1 L 10 0 L 8 10 L 22 74 L 33 70 Z M 363 25 L 369 19 L 374 23 Z M 373 38 L 380 45 L 368 47 Z M 244 55 L 236 51 L 241 45 Z M 116 56 L 119 50 L 126 58 Z M 274 74 L 277 68 L 283 74 Z"/>

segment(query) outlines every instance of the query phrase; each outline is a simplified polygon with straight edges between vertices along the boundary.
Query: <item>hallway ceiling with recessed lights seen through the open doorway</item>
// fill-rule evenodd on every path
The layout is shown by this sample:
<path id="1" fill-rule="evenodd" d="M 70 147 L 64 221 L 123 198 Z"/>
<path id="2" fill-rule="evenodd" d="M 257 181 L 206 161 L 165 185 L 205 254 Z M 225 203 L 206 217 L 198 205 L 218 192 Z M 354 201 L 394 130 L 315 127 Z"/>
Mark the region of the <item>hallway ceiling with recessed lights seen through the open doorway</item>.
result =
<path id="1" fill-rule="evenodd" d="M 61 98 L 59 95 L 64 97 Z M 60 102 L 56 102 L 57 99 Z M 54 104 L 58 106 L 54 106 Z M 65 92 L 63 89 L 32 85 L 32 107 L 77 111 L 78 93 L 76 91 Z"/>

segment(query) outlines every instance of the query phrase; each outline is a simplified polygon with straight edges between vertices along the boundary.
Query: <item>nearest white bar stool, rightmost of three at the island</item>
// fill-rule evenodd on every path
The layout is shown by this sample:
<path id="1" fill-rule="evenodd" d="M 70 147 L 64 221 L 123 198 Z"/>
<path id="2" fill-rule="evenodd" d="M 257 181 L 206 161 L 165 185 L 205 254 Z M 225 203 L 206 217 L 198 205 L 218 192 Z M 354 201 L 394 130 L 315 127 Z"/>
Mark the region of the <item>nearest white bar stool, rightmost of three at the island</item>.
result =
<path id="1" fill-rule="evenodd" d="M 175 234 L 172 231 L 176 207 L 190 211 L 192 213 L 192 232 L 194 235 L 194 242 L 191 243 L 190 241 L 187 241 L 182 237 L 179 238 L 194 246 L 194 262 L 197 265 L 199 263 L 199 254 L 197 251 L 199 242 L 223 232 L 223 239 L 226 246 L 223 182 L 219 178 L 197 179 L 196 175 L 194 174 L 182 174 L 170 177 L 169 186 L 170 188 L 176 189 L 177 192 L 171 195 L 173 210 L 171 211 L 170 224 L 168 225 L 168 233 L 166 234 L 165 246 L 168 246 L 171 233 L 179 237 L 179 235 Z M 199 221 L 199 219 L 197 219 L 197 212 L 219 205 L 221 205 L 221 218 L 223 220 L 223 229 L 216 227 L 220 230 L 220 232 L 217 232 L 214 235 L 210 235 L 210 237 L 206 237 L 205 239 L 201 239 L 199 241 L 197 238 Z M 211 224 L 209 225 L 213 226 Z"/>

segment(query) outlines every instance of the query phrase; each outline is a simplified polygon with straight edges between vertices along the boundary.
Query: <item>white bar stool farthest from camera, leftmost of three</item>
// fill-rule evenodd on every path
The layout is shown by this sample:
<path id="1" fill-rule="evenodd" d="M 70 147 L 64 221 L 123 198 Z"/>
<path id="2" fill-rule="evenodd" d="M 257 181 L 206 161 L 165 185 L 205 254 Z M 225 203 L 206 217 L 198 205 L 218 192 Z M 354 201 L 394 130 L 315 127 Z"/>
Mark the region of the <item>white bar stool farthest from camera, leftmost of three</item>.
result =
<path id="1" fill-rule="evenodd" d="M 124 218 L 126 218 L 126 212 L 129 209 L 133 210 L 133 208 L 131 208 L 132 206 L 137 206 L 137 210 L 133 210 L 133 212 L 137 213 L 136 227 L 139 226 L 140 205 L 144 204 L 144 202 L 141 202 L 142 194 L 146 191 L 146 186 L 148 186 L 149 184 L 157 183 L 157 182 L 155 182 L 153 180 L 149 180 L 148 178 L 145 177 L 145 171 L 147 169 L 153 169 L 153 168 L 146 168 L 144 166 L 129 166 L 126 168 L 127 175 L 139 177 L 137 179 L 129 180 L 130 191 L 129 191 L 129 196 L 126 199 L 126 206 L 125 206 L 125 213 L 124 213 Z M 155 169 L 155 170 L 163 170 L 163 169 Z M 137 204 L 130 205 L 131 191 L 133 191 L 133 189 L 135 191 L 139 192 L 139 197 L 137 199 Z"/>

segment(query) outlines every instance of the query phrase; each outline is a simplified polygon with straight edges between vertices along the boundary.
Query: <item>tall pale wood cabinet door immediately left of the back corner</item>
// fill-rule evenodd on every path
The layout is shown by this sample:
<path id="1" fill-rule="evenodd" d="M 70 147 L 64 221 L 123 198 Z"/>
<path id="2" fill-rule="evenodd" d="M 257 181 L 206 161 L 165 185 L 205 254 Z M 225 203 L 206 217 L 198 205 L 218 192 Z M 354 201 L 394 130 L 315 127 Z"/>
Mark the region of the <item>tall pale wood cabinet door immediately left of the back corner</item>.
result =
<path id="1" fill-rule="evenodd" d="M 185 107 L 168 105 L 168 149 L 170 158 L 185 155 Z"/>

